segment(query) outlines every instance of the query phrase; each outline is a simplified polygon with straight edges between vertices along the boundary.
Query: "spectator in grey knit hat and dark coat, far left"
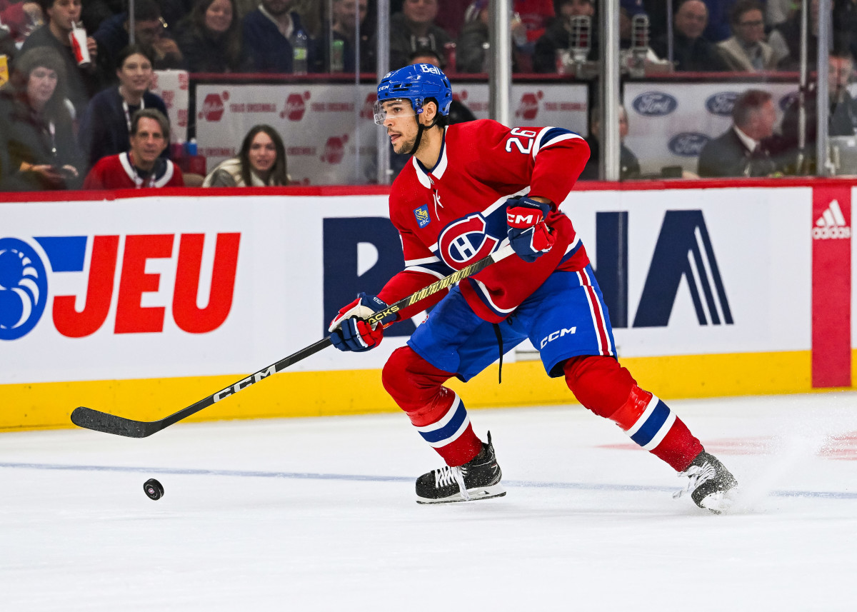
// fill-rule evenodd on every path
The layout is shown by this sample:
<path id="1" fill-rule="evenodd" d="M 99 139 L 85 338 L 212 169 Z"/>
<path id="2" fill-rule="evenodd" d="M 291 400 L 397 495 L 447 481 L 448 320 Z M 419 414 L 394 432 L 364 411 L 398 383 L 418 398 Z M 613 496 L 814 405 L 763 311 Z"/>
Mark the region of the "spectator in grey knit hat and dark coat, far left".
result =
<path id="1" fill-rule="evenodd" d="M 0 177 L 5 191 L 75 189 L 81 155 L 65 101 L 65 62 L 51 47 L 21 53 L 0 87 Z"/>

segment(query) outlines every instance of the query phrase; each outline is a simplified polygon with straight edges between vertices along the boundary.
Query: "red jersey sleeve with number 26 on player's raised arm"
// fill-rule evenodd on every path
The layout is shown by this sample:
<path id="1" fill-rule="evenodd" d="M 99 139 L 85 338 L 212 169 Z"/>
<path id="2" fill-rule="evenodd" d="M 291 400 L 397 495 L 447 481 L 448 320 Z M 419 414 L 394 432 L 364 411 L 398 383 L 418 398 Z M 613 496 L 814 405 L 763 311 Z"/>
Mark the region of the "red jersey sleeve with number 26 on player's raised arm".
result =
<path id="1" fill-rule="evenodd" d="M 530 185 L 529 195 L 548 198 L 559 207 L 577 182 L 589 145 L 565 128 L 507 128 L 494 121 L 479 122 L 473 141 L 470 173 L 489 183 Z"/>

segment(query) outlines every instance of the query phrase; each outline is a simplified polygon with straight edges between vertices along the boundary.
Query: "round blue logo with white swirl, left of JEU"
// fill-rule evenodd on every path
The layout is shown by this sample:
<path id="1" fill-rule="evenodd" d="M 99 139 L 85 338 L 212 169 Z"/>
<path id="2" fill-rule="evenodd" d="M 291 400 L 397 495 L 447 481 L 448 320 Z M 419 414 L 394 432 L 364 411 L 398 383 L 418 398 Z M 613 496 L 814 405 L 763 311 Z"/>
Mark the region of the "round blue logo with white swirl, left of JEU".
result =
<path id="1" fill-rule="evenodd" d="M 30 332 L 48 300 L 45 264 L 29 244 L 0 238 L 0 339 Z"/>

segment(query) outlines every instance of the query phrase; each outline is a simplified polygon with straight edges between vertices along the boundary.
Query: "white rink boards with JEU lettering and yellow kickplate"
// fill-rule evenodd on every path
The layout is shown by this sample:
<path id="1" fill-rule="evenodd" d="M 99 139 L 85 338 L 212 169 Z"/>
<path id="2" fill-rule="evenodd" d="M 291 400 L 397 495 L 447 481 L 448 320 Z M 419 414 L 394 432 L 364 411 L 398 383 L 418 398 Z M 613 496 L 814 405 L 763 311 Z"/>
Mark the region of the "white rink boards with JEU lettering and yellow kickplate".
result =
<path id="1" fill-rule="evenodd" d="M 664 398 L 852 386 L 851 183 L 614 188 L 575 190 L 563 210 L 641 385 Z M 321 339 L 402 266 L 384 189 L 72 197 L 0 205 L 0 430 L 65 427 L 77 405 L 171 414 Z M 395 410 L 380 370 L 414 325 L 193 418 Z M 494 365 L 452 386 L 472 407 L 572 401 L 531 346 L 496 381 Z"/>

